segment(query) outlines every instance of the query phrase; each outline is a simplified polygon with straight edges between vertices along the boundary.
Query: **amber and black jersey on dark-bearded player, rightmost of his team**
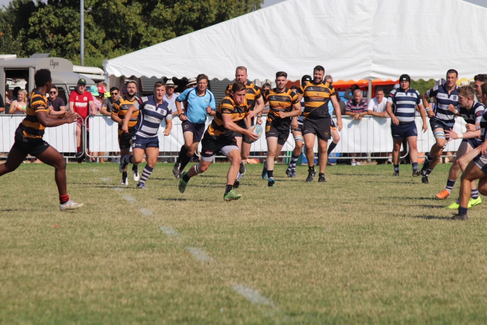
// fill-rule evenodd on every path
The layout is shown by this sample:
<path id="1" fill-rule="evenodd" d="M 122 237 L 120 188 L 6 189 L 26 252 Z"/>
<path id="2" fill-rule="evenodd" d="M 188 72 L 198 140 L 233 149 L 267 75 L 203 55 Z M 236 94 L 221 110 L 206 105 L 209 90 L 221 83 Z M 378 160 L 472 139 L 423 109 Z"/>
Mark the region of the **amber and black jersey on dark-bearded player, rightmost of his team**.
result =
<path id="1" fill-rule="evenodd" d="M 331 83 L 315 84 L 312 81 L 301 84 L 298 94 L 304 97 L 304 119 L 329 117 L 328 101 L 337 95 Z"/>

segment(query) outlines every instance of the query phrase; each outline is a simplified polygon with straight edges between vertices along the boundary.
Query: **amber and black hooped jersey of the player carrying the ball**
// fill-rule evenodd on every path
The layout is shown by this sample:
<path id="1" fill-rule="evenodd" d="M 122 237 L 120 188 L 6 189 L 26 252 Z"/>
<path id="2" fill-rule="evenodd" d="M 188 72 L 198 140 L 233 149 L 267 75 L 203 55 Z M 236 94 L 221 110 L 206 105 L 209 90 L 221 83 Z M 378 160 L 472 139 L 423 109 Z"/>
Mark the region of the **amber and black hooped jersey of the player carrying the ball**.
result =
<path id="1" fill-rule="evenodd" d="M 225 129 L 223 124 L 223 115 L 231 115 L 232 121 L 237 123 L 238 121 L 244 119 L 245 115 L 250 112 L 250 108 L 247 103 L 247 99 L 244 98 L 244 102 L 241 105 L 237 105 L 233 98 L 226 96 L 218 105 L 216 109 L 216 114 L 211 121 L 211 124 L 206 129 L 206 132 L 215 137 L 224 135 L 233 135 L 233 131 Z"/>

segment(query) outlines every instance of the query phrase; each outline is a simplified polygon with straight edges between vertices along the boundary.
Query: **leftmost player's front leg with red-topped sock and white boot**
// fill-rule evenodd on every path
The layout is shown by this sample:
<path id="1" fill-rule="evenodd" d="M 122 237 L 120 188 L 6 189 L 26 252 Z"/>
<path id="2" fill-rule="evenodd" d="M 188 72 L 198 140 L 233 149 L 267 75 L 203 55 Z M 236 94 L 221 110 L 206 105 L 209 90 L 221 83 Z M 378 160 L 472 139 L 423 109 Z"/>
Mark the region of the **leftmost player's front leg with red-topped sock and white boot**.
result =
<path id="1" fill-rule="evenodd" d="M 83 206 L 69 199 L 68 188 L 66 185 L 66 160 L 54 147 L 49 146 L 35 156 L 44 164 L 54 167 L 54 179 L 56 180 L 57 191 L 59 193 L 59 209 L 75 210 Z"/>

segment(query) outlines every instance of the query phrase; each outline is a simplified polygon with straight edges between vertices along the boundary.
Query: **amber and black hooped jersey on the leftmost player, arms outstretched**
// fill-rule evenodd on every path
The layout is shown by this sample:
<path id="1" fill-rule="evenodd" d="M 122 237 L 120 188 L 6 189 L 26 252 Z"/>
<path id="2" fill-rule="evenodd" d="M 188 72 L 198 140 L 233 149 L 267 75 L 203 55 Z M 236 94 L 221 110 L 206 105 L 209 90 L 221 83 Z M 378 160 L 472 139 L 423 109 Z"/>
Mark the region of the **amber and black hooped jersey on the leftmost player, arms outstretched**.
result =
<path id="1" fill-rule="evenodd" d="M 47 108 L 47 98 L 44 94 L 40 93 L 37 89 L 34 89 L 27 102 L 27 110 L 25 118 L 19 125 L 23 134 L 29 138 L 42 138 L 44 135 L 44 125 L 37 119 L 37 112 L 44 111 L 49 114 Z"/>

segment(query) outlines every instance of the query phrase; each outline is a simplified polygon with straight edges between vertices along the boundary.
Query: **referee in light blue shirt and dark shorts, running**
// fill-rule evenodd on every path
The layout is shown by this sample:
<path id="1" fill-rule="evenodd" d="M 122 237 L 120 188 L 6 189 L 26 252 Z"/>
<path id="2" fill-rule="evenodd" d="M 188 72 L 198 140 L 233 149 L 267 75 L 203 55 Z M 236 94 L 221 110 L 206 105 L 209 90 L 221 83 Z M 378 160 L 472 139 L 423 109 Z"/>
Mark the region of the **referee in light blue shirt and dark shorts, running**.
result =
<path id="1" fill-rule="evenodd" d="M 180 178 L 187 163 L 191 160 L 198 144 L 205 132 L 206 115 L 215 115 L 215 96 L 206 89 L 208 76 L 200 74 L 196 77 L 196 87 L 185 90 L 176 98 L 176 109 L 183 127 L 184 145 L 181 146 L 178 159 L 172 172 L 176 178 Z M 181 102 L 186 102 L 185 112 L 181 108 Z"/>

